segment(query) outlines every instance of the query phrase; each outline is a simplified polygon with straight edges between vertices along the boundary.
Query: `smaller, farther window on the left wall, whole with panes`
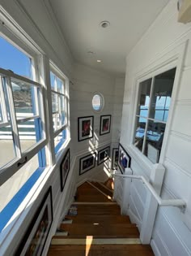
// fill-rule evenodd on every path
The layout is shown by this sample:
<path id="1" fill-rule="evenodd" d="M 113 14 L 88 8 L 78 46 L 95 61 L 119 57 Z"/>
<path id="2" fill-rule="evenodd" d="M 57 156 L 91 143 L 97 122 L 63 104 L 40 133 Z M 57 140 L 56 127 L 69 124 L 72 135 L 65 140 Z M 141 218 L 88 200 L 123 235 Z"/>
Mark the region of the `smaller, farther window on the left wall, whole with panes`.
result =
<path id="1" fill-rule="evenodd" d="M 50 82 L 53 112 L 53 138 L 55 154 L 69 137 L 68 124 L 68 80 L 58 69 L 50 65 Z"/>

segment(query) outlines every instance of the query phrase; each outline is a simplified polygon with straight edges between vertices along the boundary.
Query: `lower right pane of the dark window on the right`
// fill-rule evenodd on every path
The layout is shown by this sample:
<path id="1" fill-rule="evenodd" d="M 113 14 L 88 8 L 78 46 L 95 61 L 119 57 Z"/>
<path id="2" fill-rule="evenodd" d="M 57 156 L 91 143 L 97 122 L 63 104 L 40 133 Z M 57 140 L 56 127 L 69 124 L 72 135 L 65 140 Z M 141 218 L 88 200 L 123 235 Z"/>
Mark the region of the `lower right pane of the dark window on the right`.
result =
<path id="1" fill-rule="evenodd" d="M 157 123 L 152 120 L 150 120 L 148 123 L 148 129 L 146 132 L 146 148 L 144 154 L 150 158 L 153 163 L 159 162 L 165 127 L 166 124 Z"/>

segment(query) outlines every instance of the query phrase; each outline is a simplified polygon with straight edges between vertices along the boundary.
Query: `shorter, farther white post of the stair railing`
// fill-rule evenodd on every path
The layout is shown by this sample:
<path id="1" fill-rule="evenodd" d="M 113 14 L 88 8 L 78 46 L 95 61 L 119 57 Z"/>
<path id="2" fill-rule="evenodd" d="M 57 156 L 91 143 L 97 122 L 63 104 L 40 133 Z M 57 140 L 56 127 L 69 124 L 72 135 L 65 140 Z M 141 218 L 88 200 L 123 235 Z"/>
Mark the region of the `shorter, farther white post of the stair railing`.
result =
<path id="1" fill-rule="evenodd" d="M 130 168 L 125 168 L 125 175 L 132 175 Z M 128 215 L 131 179 L 123 178 L 123 194 L 121 200 L 121 215 Z"/>

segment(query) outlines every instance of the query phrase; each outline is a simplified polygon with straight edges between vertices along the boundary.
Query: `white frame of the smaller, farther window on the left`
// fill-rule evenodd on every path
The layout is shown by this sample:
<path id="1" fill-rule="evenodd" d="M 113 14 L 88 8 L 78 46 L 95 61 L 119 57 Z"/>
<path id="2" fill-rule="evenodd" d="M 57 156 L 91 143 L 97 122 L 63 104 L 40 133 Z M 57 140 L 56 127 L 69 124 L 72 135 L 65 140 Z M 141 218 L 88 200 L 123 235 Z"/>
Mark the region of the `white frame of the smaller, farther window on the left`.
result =
<path id="1" fill-rule="evenodd" d="M 62 95 L 62 97 L 64 97 L 64 102 L 65 102 L 64 103 L 64 105 L 65 105 L 64 106 L 65 123 L 60 128 L 57 128 L 57 130 L 55 130 L 55 131 L 53 130 L 52 138 L 53 138 L 53 141 L 54 141 L 55 137 L 57 137 L 63 130 L 66 130 L 66 141 L 68 141 L 70 139 L 69 80 L 68 80 L 67 76 L 64 75 L 52 61 L 50 61 L 49 67 L 50 67 L 50 72 L 52 72 L 53 75 L 57 76 L 57 78 L 62 80 L 63 81 L 63 85 L 64 85 L 64 92 L 63 93 L 59 93 L 59 92 L 53 90 L 52 87 L 51 87 L 51 95 L 52 95 L 52 93 L 56 93 L 57 95 Z M 49 75 L 50 75 L 50 73 L 49 73 Z M 51 106 L 49 106 L 49 107 L 51 107 L 51 113 L 52 113 L 51 116 L 52 116 L 52 119 L 53 119 L 53 114 L 54 113 L 53 113 L 52 105 L 53 105 L 53 102 L 52 102 L 52 98 L 51 98 Z M 65 146 L 65 144 L 66 143 L 64 143 L 64 145 L 61 147 L 61 149 Z M 54 146 L 54 148 L 55 148 L 55 146 Z M 55 154 L 55 153 L 53 152 L 53 154 Z"/>

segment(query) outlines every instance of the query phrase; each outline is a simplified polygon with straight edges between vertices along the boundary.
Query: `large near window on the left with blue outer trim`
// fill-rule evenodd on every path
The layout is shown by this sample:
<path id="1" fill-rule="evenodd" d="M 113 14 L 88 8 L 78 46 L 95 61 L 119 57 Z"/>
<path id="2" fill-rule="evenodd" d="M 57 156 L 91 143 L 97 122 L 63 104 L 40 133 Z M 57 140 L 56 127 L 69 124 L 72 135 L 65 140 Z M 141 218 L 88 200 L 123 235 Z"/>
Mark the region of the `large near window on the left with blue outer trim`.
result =
<path id="1" fill-rule="evenodd" d="M 47 144 L 45 89 L 37 79 L 36 60 L 40 53 L 26 43 L 27 38 L 23 42 L 8 29 L 7 37 L 6 28 L 3 30 L 5 33 L 0 34 L 0 232 L 44 170 Z"/>

